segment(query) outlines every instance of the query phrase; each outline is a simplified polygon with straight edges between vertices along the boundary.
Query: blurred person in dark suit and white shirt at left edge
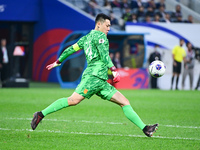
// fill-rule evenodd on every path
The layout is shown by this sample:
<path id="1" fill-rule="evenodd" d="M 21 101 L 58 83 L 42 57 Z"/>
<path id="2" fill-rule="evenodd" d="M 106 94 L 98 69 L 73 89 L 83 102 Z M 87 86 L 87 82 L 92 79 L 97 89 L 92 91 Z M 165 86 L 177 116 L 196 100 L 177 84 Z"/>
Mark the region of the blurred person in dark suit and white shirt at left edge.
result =
<path id="1" fill-rule="evenodd" d="M 1 81 L 5 81 L 9 78 L 9 55 L 7 50 L 6 39 L 1 39 L 1 52 L 3 53 Z"/>

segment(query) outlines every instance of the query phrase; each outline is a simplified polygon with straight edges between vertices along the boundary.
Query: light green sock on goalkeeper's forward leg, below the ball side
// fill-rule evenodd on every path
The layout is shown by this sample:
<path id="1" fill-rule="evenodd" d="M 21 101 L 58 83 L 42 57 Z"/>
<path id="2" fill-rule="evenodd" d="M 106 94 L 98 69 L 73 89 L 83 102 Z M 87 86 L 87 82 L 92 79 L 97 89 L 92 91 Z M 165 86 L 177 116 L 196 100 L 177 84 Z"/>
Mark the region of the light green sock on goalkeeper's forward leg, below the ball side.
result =
<path id="1" fill-rule="evenodd" d="M 146 126 L 137 113 L 133 110 L 131 105 L 126 105 L 122 107 L 125 116 L 133 122 L 136 126 L 138 126 L 141 130 Z"/>

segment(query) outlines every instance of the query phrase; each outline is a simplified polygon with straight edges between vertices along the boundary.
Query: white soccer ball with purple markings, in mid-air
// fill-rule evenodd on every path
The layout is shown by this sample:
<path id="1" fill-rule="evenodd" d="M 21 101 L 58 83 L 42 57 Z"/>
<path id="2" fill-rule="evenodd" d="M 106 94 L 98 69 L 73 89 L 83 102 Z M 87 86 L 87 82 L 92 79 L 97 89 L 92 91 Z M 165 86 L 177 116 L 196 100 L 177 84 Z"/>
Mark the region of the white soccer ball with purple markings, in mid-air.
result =
<path id="1" fill-rule="evenodd" d="M 154 78 L 162 77 L 165 73 L 166 66 L 160 60 L 155 60 L 149 65 L 149 73 Z"/>

